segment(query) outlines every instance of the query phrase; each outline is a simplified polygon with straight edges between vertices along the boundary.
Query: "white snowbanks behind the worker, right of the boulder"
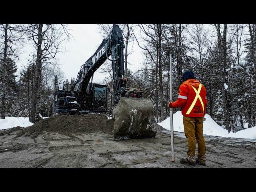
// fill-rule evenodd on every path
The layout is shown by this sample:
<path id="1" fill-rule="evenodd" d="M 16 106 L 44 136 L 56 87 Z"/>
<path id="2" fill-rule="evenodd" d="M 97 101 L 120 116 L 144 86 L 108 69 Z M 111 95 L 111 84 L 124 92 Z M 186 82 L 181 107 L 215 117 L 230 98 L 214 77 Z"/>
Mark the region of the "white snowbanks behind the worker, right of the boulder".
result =
<path id="1" fill-rule="evenodd" d="M 246 130 L 241 130 L 236 133 L 230 132 L 228 134 L 228 130 L 219 126 L 210 117 L 210 115 L 206 114 L 204 117 L 206 118 L 206 121 L 204 122 L 204 125 L 203 125 L 203 131 L 205 135 L 256 139 L 256 127 L 248 128 Z M 158 124 L 163 128 L 170 130 L 170 117 L 168 117 L 166 120 Z M 181 111 L 177 111 L 175 114 L 173 114 L 173 129 L 174 131 L 184 132 L 183 115 L 181 114 Z"/>

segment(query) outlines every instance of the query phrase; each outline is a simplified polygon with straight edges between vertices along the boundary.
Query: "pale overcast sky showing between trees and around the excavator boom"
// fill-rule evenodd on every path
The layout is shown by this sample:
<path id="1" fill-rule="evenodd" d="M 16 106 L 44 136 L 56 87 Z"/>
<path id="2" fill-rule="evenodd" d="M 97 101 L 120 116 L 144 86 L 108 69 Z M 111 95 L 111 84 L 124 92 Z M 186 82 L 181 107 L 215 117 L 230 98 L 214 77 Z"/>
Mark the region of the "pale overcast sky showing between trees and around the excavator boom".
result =
<path id="1" fill-rule="evenodd" d="M 71 38 L 68 42 L 64 42 L 63 46 L 67 52 L 59 53 L 57 58 L 59 59 L 59 64 L 64 72 L 64 76 L 70 81 L 71 77 L 76 78 L 80 66 L 84 64 L 100 46 L 103 36 L 100 34 L 96 24 L 69 24 L 68 28 L 74 39 Z M 131 51 L 131 48 L 132 43 L 129 43 L 128 51 Z M 27 60 L 30 58 L 29 54 L 34 50 L 32 45 L 26 45 L 24 49 L 22 49 L 23 53 L 20 55 L 20 60 L 17 62 L 18 75 L 20 74 L 22 66 L 27 64 Z M 135 71 L 142 66 L 142 60 L 142 49 L 134 42 L 132 54 L 128 56 L 128 68 Z M 100 71 L 100 69 L 94 73 L 93 82 L 102 82 L 102 80 L 105 79 L 104 74 L 98 71 Z"/>

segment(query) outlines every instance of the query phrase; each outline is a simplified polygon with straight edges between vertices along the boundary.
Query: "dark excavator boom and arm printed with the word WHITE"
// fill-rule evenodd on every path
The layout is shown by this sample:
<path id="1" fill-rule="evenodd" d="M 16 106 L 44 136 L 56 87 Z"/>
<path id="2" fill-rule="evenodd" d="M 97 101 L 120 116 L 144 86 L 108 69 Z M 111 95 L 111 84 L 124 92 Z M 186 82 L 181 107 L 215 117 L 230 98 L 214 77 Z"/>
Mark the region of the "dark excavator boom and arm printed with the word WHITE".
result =
<path id="1" fill-rule="evenodd" d="M 79 83 L 76 91 L 78 100 L 84 100 L 88 92 L 88 84 L 94 72 L 108 59 L 112 61 L 113 70 L 113 90 L 115 94 L 120 94 L 119 89 L 126 87 L 124 78 L 124 40 L 122 31 L 117 24 L 113 24 L 112 30 L 104 38 L 96 52 L 81 66 L 76 81 L 71 86 L 71 92 L 74 95 L 74 88 Z M 109 59 L 111 55 L 111 59 Z M 122 90 L 124 92 L 124 90 Z"/>

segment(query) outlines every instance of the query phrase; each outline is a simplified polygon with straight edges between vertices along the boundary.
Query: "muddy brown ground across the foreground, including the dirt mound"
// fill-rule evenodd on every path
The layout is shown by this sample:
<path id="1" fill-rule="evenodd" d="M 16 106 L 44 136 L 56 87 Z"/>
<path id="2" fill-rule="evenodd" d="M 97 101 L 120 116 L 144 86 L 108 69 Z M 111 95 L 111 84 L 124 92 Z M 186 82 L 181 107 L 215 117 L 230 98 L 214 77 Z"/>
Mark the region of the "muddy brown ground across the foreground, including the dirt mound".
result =
<path id="1" fill-rule="evenodd" d="M 114 141 L 104 115 L 53 116 L 27 128 L 0 130 L 0 168 L 254 168 L 256 140 L 205 136 L 206 166 L 180 164 L 184 133 L 157 126 L 155 138 Z"/>

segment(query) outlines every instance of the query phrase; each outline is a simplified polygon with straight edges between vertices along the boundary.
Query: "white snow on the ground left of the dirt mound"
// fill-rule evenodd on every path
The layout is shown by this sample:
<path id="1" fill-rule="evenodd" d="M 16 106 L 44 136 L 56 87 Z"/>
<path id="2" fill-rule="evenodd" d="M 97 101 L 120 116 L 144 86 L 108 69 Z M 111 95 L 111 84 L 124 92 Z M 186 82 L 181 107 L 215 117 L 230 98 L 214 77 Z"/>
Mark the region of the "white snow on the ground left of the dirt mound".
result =
<path id="1" fill-rule="evenodd" d="M 43 117 L 45 119 L 47 117 Z M 5 119 L 0 119 L 0 129 L 8 129 L 12 127 L 28 127 L 33 125 L 29 121 L 28 117 L 5 117 Z"/>

